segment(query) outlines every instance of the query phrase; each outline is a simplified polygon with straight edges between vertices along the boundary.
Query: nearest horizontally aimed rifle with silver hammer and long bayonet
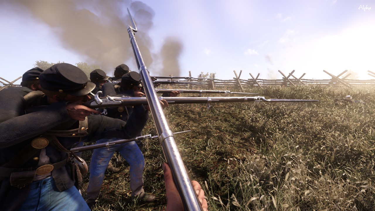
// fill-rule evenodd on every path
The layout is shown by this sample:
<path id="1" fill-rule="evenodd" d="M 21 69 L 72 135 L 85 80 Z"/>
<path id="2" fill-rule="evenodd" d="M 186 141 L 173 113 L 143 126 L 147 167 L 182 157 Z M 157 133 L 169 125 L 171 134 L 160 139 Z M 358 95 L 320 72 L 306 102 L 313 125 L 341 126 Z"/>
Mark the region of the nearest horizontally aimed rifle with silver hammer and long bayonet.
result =
<path id="1" fill-rule="evenodd" d="M 149 101 L 147 97 L 129 97 L 129 96 L 106 96 L 99 97 L 102 91 L 98 91 L 94 99 L 84 103 L 83 105 L 96 109 L 104 107 L 118 107 L 130 105 L 147 105 Z M 168 104 L 186 104 L 186 103 L 207 103 L 212 102 L 317 102 L 316 99 L 266 99 L 264 96 L 255 97 L 162 97 L 157 96 L 157 100 L 165 99 Z"/>

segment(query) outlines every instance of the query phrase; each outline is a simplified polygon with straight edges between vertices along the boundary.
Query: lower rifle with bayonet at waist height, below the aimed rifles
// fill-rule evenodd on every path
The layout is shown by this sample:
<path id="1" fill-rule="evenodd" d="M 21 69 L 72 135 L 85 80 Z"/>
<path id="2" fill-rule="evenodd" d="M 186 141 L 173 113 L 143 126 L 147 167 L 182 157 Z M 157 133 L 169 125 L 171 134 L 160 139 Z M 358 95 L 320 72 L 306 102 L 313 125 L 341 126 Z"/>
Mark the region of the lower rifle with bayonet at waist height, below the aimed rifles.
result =
<path id="1" fill-rule="evenodd" d="M 176 133 L 173 133 L 173 134 L 186 133 L 186 132 L 190 132 L 190 131 L 191 130 L 186 130 L 186 131 L 176 132 Z M 144 136 L 137 136 L 133 139 L 120 139 L 120 140 L 115 140 L 115 141 L 110 141 L 110 142 L 105 142 L 105 143 L 92 144 L 92 145 L 88 145 L 88 146 L 80 146 L 80 147 L 72 148 L 70 151 L 71 152 L 83 152 L 83 151 L 98 149 L 98 148 L 102 148 L 102 147 L 110 147 L 110 146 L 117 145 L 117 144 L 120 144 L 120 143 L 127 143 L 127 142 L 133 142 L 133 141 L 144 140 L 144 139 L 154 139 L 154 138 L 157 138 L 157 137 L 158 136 L 151 136 L 151 134 L 148 134 L 148 135 L 144 135 Z"/>

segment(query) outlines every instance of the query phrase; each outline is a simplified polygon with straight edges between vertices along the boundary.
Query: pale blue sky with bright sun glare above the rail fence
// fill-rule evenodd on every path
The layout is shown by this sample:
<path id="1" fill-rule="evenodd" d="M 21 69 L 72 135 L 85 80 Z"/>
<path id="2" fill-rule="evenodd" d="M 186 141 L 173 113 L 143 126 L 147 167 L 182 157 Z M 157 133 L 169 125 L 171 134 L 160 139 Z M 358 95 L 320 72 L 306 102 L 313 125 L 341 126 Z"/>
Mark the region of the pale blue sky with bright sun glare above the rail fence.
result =
<path id="1" fill-rule="evenodd" d="M 200 72 L 216 72 L 216 78 L 231 79 L 233 70 L 237 74 L 242 70 L 243 79 L 250 78 L 249 73 L 270 79 L 282 77 L 278 70 L 288 74 L 294 69 L 296 77 L 306 73 L 303 78 L 328 79 L 323 69 L 334 75 L 348 69 L 357 72 L 360 79 L 371 79 L 367 71 L 375 72 L 375 4 L 370 0 L 143 0 L 141 6 L 150 12 L 149 16 L 142 16 L 130 0 L 85 0 L 79 5 L 66 1 L 77 10 L 87 9 L 85 14 L 102 24 L 82 26 L 90 33 L 80 32 L 86 37 L 84 42 L 72 41 L 79 48 L 65 43 L 69 35 L 62 36 L 64 30 L 73 27 L 74 18 L 56 16 L 59 20 L 54 21 L 66 19 L 65 28 L 49 20 L 56 12 L 51 12 L 51 8 L 58 8 L 54 1 L 35 1 L 33 5 L 23 2 L 26 1 L 0 3 L 0 77 L 7 80 L 21 76 L 36 60 L 96 63 L 108 75 L 120 63 L 136 70 L 128 35 L 118 27 L 107 28 L 115 21 L 127 22 L 126 7 L 138 26 L 138 43 L 143 37 L 149 38 L 142 44 L 150 50 L 152 59 L 144 59 L 151 75 L 188 76 L 191 71 L 198 76 Z M 111 2 L 112 6 L 103 6 L 103 2 Z M 43 9 L 35 9 L 38 4 Z M 109 32 L 108 36 L 99 35 L 98 42 L 91 40 L 90 30 Z M 119 43 L 118 47 L 110 45 L 113 40 Z M 176 68 L 163 67 L 160 59 L 167 41 L 178 44 Z M 123 51 L 123 56 L 113 56 L 122 55 Z M 163 68 L 169 72 L 162 73 Z M 173 69 L 179 69 L 179 73 Z"/>

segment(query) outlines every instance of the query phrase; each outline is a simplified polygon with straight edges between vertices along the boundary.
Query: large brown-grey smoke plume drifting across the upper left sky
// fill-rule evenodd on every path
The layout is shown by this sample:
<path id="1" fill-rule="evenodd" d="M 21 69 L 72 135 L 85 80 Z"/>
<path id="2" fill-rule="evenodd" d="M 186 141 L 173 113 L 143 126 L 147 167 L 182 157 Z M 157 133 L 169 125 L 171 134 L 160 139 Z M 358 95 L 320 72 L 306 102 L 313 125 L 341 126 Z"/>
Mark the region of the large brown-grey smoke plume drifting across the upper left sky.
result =
<path id="1" fill-rule="evenodd" d="M 18 4 L 20 11 L 27 8 L 37 20 L 47 24 L 60 38 L 61 45 L 85 58 L 84 62 L 101 66 L 108 75 L 121 63 L 133 63 L 127 25 L 128 7 L 139 32 L 136 39 L 146 65 L 151 65 L 148 35 L 153 26 L 154 11 L 142 2 L 132 0 L 7 0 Z M 51 52 L 53 53 L 53 52 Z M 133 69 L 134 71 L 134 69 Z"/>

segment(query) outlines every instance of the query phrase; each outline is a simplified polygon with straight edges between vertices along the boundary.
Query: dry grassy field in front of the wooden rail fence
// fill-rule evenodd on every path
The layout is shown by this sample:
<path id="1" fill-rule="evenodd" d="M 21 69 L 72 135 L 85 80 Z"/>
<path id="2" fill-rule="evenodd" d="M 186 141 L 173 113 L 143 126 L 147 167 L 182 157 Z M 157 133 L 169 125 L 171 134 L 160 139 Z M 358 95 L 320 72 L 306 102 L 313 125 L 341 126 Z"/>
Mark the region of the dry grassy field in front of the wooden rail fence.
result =
<path id="1" fill-rule="evenodd" d="M 210 109 L 181 104 L 165 109 L 172 131 L 192 130 L 175 139 L 191 179 L 204 187 L 209 210 L 375 210 L 375 87 L 316 85 L 245 92 L 320 102 L 221 103 Z M 346 95 L 366 104 L 335 105 L 335 98 Z M 144 134 L 156 134 L 152 120 Z M 93 210 L 165 209 L 163 154 L 158 140 L 144 143 L 144 188 L 156 200 L 132 200 L 129 165 L 115 162 L 123 170 L 107 172 Z M 86 153 L 86 160 L 89 156 Z"/>

